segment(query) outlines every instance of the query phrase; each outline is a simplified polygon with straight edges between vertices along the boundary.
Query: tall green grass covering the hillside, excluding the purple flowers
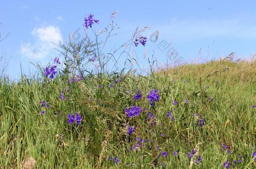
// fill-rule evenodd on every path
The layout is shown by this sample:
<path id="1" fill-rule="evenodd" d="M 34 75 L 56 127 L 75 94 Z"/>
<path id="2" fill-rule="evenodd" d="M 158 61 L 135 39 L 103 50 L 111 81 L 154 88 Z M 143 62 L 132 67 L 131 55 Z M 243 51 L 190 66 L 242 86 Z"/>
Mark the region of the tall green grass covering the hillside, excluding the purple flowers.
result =
<path id="1" fill-rule="evenodd" d="M 215 169 L 223 168 L 226 160 L 238 160 L 238 155 L 243 156 L 238 168 L 256 167 L 252 158 L 256 151 L 256 108 L 252 108 L 256 104 L 255 61 L 212 61 L 160 70 L 154 76 L 122 76 L 117 84 L 108 76 L 88 76 L 74 84 L 67 84 L 65 77 L 46 81 L 23 76 L 16 83 L 2 79 L 0 168 L 19 168 L 31 157 L 37 168 L 147 169 L 162 168 L 166 162 L 167 168 Z M 113 88 L 110 83 L 115 84 Z M 98 88 L 99 84 L 103 88 Z M 68 86 L 72 94 L 61 101 L 60 92 Z M 133 101 L 137 89 L 143 98 Z M 146 99 L 152 89 L 158 89 L 161 97 L 154 108 Z M 178 106 L 171 104 L 175 99 Z M 50 108 L 41 115 L 38 102 L 43 100 Z M 128 118 L 124 109 L 131 105 L 148 108 L 157 117 L 156 125 L 146 120 L 146 111 Z M 175 120 L 167 118 L 171 110 Z M 67 114 L 76 111 L 83 118 L 81 124 L 68 125 Z M 206 119 L 202 127 L 192 116 L 197 113 Z M 125 134 L 127 123 L 136 126 L 135 134 Z M 129 151 L 138 137 L 148 142 Z M 230 154 L 219 151 L 223 143 L 230 146 Z M 202 156 L 198 165 L 186 155 L 191 149 Z M 178 156 L 172 156 L 175 150 L 179 150 Z M 161 156 L 162 151 L 168 152 L 167 158 Z M 118 165 L 108 160 L 109 155 L 117 155 Z"/>

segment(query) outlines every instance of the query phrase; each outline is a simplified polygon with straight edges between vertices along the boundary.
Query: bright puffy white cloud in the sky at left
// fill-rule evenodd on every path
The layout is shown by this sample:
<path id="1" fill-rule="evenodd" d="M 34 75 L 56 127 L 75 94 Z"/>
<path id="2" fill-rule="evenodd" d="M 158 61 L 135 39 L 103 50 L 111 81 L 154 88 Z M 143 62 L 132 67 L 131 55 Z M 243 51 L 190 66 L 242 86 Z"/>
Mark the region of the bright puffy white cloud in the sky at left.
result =
<path id="1" fill-rule="evenodd" d="M 32 30 L 31 35 L 35 38 L 34 43 L 22 43 L 21 54 L 30 59 L 43 59 L 46 57 L 55 57 L 57 51 L 55 44 L 63 41 L 60 29 L 49 25 Z"/>

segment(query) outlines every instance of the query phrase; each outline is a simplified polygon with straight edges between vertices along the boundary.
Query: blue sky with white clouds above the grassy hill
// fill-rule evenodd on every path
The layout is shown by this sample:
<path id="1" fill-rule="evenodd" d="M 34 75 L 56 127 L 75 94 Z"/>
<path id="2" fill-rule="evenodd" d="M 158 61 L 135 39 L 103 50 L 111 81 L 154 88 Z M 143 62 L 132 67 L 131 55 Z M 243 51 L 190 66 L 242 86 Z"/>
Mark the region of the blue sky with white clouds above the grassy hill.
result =
<path id="1" fill-rule="evenodd" d="M 171 42 L 171 48 L 188 62 L 196 60 L 200 49 L 201 61 L 231 52 L 236 52 L 236 57 L 248 58 L 256 53 L 255 6 L 253 0 L 3 1 L 1 32 L 11 33 L 0 42 L 0 52 L 9 61 L 9 76 L 20 76 L 20 64 L 25 73 L 33 73 L 35 68 L 30 62 L 40 61 L 44 65 L 58 56 L 50 42 L 66 41 L 76 30 L 83 34 L 85 15 L 93 14 L 100 20 L 95 26 L 99 30 L 107 25 L 112 12 L 118 10 L 114 21 L 120 29 L 110 40 L 110 46 L 128 40 L 137 26 L 151 27 L 144 32 L 147 37 L 159 30 L 155 44 L 148 39 L 146 47 L 134 48 L 141 62 L 148 47 L 149 55 L 155 50 L 159 62 L 165 63 L 166 50 L 157 47 L 163 41 Z"/>

